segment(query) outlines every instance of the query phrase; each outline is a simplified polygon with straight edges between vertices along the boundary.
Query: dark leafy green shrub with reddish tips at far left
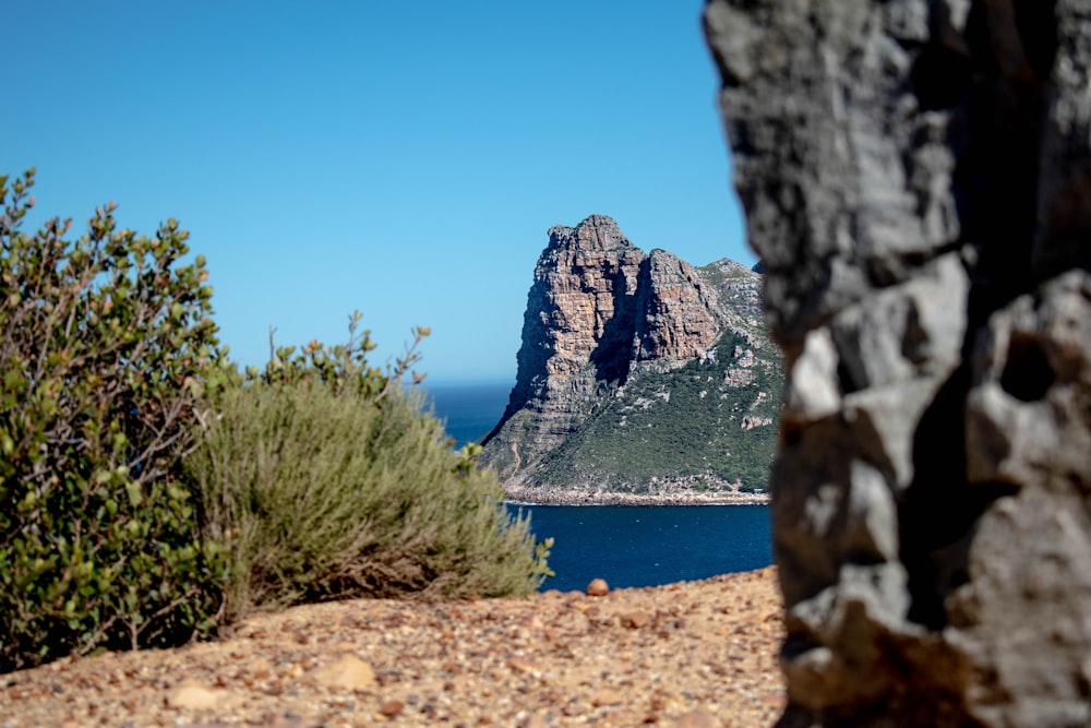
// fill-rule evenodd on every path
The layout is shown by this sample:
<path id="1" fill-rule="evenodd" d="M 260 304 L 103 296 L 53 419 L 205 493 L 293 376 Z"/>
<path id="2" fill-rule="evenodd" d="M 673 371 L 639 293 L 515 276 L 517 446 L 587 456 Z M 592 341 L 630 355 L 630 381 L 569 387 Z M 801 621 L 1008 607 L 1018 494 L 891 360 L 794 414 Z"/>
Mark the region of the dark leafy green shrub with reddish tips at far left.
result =
<path id="1" fill-rule="evenodd" d="M 0 670 L 178 644 L 219 607 L 215 547 L 178 479 L 217 379 L 204 262 L 177 223 L 27 235 L 34 170 L 0 177 Z"/>

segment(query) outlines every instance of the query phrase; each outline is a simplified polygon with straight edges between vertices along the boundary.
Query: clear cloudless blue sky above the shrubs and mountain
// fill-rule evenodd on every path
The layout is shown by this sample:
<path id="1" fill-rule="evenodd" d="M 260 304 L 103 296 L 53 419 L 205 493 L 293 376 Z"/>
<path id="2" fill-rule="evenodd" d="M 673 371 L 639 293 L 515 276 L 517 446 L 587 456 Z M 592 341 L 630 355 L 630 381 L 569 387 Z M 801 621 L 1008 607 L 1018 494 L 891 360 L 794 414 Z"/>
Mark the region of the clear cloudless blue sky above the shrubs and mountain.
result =
<path id="1" fill-rule="evenodd" d="M 413 325 L 435 383 L 515 378 L 547 230 L 755 262 L 702 0 L 0 0 L 0 174 L 37 224 L 118 203 L 208 260 L 241 363 Z"/>

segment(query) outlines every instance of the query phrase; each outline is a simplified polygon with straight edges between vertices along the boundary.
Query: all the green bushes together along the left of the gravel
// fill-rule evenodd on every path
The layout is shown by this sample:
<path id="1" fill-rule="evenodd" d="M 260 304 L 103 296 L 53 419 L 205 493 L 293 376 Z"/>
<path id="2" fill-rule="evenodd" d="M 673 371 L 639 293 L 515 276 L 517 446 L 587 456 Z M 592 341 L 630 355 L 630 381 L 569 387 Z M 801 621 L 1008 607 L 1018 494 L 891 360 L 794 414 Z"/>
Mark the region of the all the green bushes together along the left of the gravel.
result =
<path id="1" fill-rule="evenodd" d="M 0 671 L 213 634 L 359 595 L 525 594 L 549 541 L 495 477 L 347 346 L 227 359 L 204 259 L 168 220 L 22 230 L 0 176 Z M 352 319 L 355 333 L 358 317 Z"/>

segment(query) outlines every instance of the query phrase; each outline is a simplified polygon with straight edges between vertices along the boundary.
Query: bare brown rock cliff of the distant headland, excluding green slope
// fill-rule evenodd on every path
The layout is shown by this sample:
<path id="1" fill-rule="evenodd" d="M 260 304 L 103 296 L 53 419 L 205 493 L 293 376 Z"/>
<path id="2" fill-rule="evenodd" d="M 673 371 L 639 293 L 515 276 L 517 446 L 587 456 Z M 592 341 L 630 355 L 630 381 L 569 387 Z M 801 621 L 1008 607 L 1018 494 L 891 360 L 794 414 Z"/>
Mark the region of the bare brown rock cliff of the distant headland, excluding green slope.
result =
<path id="1" fill-rule="evenodd" d="M 484 440 L 483 461 L 509 492 L 536 484 L 580 490 L 591 480 L 609 490 L 603 481 L 613 480 L 616 468 L 590 462 L 602 460 L 590 452 L 604 446 L 591 431 L 612 437 L 599 421 L 607 410 L 616 415 L 613 425 L 624 427 L 627 417 L 614 410 L 628 406 L 626 396 L 643 391 L 649 377 L 721 359 L 723 369 L 747 353 L 751 369 L 775 366 L 767 361 L 771 347 L 757 318 L 759 278 L 730 261 L 695 268 L 663 250 L 645 253 L 602 215 L 574 228 L 551 228 L 527 297 L 516 385 L 502 421 Z M 718 357 L 726 332 L 740 345 Z M 670 383 L 662 387 L 667 392 Z M 771 433 L 771 418 L 759 420 Z M 583 475 L 579 463 L 586 465 Z M 676 474 L 676 465 L 662 463 L 644 479 Z M 624 487 L 646 488 L 639 479 L 634 475 Z"/>

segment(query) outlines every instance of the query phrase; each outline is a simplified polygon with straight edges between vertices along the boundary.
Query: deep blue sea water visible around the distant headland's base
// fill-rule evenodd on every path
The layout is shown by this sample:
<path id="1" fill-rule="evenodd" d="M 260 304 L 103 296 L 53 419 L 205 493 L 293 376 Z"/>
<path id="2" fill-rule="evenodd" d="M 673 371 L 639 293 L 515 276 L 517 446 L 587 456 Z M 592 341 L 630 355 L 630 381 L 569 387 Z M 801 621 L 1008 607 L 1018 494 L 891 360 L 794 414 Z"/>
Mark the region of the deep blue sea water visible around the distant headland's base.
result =
<path id="1" fill-rule="evenodd" d="M 457 445 L 475 442 L 500 421 L 509 382 L 433 385 L 435 414 Z M 554 539 L 555 576 L 542 588 L 657 586 L 772 563 L 765 505 L 518 505 L 541 539 Z"/>

